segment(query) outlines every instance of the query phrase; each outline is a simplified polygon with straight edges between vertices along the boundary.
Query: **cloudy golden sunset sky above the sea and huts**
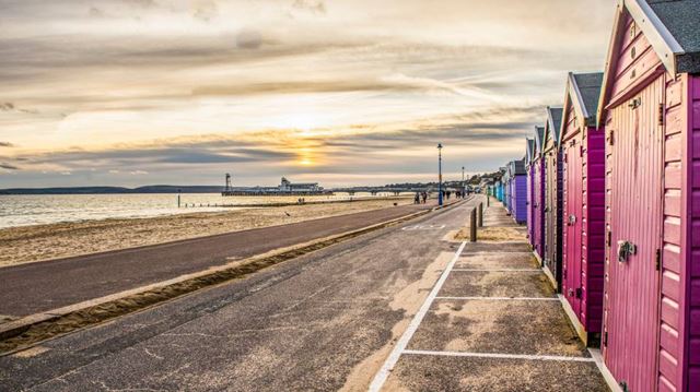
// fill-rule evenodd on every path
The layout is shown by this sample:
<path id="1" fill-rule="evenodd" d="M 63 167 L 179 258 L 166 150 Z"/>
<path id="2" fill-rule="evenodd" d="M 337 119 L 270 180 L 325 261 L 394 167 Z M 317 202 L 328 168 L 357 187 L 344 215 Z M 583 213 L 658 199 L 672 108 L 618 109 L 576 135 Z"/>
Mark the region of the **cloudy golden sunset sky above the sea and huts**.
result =
<path id="1" fill-rule="evenodd" d="M 611 0 L 0 0 L 0 188 L 433 181 L 525 152 Z"/>

